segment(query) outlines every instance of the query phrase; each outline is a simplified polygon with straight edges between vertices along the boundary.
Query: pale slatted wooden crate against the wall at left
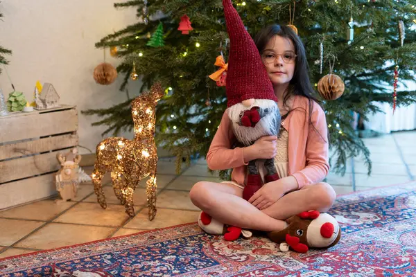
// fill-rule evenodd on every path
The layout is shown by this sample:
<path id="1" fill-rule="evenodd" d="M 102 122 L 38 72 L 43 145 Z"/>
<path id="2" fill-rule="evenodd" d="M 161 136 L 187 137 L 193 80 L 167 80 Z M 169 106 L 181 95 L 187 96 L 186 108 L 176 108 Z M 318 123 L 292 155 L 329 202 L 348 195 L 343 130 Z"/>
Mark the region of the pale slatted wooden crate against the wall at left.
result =
<path id="1" fill-rule="evenodd" d="M 0 210 L 55 195 L 56 154 L 78 145 L 76 107 L 0 116 Z"/>

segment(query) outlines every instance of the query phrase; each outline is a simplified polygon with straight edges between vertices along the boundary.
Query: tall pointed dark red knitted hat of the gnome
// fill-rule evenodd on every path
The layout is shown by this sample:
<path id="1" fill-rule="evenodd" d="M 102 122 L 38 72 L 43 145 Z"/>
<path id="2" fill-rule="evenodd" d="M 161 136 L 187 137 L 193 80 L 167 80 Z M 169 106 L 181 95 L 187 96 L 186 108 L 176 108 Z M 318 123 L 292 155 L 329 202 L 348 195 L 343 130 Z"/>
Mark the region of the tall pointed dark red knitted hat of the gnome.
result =
<path id="1" fill-rule="evenodd" d="M 245 30 L 231 0 L 223 0 L 225 21 L 230 41 L 227 69 L 227 107 L 243 100 L 270 99 L 277 102 L 261 55 L 250 34 Z"/>

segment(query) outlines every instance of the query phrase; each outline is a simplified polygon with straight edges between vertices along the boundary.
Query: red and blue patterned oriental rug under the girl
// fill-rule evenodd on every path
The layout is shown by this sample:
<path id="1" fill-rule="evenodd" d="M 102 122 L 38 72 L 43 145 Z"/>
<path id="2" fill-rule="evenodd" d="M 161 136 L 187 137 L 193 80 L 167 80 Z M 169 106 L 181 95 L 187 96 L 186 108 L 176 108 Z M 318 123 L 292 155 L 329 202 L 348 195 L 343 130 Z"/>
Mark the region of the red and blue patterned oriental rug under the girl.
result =
<path id="1" fill-rule="evenodd" d="M 1 276 L 416 276 L 416 183 L 338 197 L 335 247 L 282 253 L 226 242 L 196 223 L 0 260 Z"/>

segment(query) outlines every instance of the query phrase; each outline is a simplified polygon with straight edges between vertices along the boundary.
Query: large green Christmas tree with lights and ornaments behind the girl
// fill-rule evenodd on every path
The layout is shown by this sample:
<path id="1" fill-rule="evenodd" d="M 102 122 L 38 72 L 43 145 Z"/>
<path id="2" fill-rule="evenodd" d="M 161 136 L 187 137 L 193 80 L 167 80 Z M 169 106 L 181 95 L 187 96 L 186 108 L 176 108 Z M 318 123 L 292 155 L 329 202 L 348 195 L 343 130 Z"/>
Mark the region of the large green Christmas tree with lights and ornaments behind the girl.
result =
<path id="1" fill-rule="evenodd" d="M 389 102 L 393 106 L 396 66 L 399 66 L 399 83 L 415 81 L 412 69 L 416 64 L 416 34 L 415 28 L 410 28 L 416 18 L 416 0 L 233 2 L 252 37 L 270 24 L 288 24 L 297 29 L 306 47 L 315 87 L 329 73 L 329 64 L 333 64 L 333 73 L 345 82 L 345 91 L 337 100 L 322 102 L 330 148 L 335 153 L 331 167 L 344 173 L 347 159 L 362 155 L 370 173 L 370 152 L 352 127 L 353 114 L 365 117 L 379 111 L 375 102 Z M 221 1 L 148 0 L 114 6 L 144 10 L 141 16 L 144 19 L 148 18 L 147 12 L 154 15 L 162 11 L 166 15 L 157 21 L 149 20 L 148 24 L 139 18 L 137 24 L 104 37 L 96 47 L 121 47 L 119 55 L 123 63 L 117 68 L 125 75 L 121 90 L 129 82 L 133 61 L 143 80 L 142 89 L 150 87 L 154 80 L 162 81 L 166 97 L 157 105 L 156 138 L 159 146 L 177 156 L 177 168 L 182 157 L 189 161 L 193 154 L 205 156 L 227 105 L 225 87 L 209 78 L 218 70 L 214 62 L 220 52 L 227 62 L 227 30 Z M 189 35 L 177 30 L 184 15 L 192 21 L 193 31 Z M 159 28 L 159 22 L 165 28 L 165 46 L 150 48 L 146 46 L 146 34 Z M 416 91 L 397 89 L 397 105 L 409 105 L 415 100 Z M 108 109 L 90 109 L 85 114 L 102 116 L 93 125 L 107 125 L 106 132 L 116 134 L 132 128 L 130 101 Z"/>

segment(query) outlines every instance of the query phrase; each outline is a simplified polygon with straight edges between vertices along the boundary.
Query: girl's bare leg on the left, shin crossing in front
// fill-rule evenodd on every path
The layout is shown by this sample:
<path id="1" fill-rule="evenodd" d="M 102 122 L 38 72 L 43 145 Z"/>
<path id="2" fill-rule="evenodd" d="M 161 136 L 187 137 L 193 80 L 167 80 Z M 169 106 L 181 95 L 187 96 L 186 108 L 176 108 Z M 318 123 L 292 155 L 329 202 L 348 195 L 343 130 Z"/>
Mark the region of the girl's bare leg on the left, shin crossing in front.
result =
<path id="1" fill-rule="evenodd" d="M 287 226 L 245 201 L 243 190 L 231 184 L 200 181 L 189 195 L 195 206 L 224 224 L 259 231 L 280 231 Z"/>

